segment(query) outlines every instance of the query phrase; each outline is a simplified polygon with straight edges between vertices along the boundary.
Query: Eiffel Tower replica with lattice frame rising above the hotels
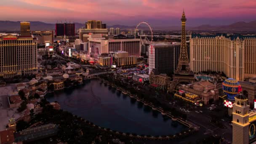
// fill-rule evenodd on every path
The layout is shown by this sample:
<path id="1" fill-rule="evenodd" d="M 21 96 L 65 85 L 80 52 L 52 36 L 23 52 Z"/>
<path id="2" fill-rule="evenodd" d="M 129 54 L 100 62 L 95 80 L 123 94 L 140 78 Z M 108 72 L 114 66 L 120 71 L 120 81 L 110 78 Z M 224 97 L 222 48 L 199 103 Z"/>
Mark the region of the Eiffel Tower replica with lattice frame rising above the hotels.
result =
<path id="1" fill-rule="evenodd" d="M 189 67 L 189 58 L 186 44 L 186 16 L 183 10 L 181 17 L 181 48 L 179 54 L 179 63 L 173 75 L 173 81 L 170 83 L 168 91 L 172 92 L 176 85 L 181 82 L 193 83 L 195 81 L 194 72 Z"/>

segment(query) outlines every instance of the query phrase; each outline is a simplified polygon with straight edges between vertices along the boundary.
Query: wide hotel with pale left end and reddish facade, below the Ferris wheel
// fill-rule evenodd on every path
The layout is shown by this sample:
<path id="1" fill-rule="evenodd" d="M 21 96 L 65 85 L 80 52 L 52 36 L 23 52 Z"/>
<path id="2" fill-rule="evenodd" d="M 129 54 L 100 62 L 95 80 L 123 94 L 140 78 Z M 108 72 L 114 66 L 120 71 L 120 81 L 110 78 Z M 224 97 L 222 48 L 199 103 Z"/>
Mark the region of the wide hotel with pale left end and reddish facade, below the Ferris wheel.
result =
<path id="1" fill-rule="evenodd" d="M 141 54 L 140 39 L 112 39 L 104 40 L 104 38 L 89 39 L 88 54 L 97 59 L 101 53 L 110 53 L 113 51 L 126 51 L 129 56 L 139 57 Z"/>

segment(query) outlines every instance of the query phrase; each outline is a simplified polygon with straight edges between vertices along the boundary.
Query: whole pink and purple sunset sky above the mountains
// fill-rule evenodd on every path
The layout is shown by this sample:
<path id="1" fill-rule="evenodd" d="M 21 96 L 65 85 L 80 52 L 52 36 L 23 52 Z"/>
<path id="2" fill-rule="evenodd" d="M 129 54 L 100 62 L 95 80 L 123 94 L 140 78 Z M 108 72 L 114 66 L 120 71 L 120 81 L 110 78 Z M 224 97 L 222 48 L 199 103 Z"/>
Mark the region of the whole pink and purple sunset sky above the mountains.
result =
<path id="1" fill-rule="evenodd" d="M 0 20 L 102 20 L 108 25 L 180 24 L 184 8 L 189 26 L 256 20 L 256 0 L 0 0 Z"/>

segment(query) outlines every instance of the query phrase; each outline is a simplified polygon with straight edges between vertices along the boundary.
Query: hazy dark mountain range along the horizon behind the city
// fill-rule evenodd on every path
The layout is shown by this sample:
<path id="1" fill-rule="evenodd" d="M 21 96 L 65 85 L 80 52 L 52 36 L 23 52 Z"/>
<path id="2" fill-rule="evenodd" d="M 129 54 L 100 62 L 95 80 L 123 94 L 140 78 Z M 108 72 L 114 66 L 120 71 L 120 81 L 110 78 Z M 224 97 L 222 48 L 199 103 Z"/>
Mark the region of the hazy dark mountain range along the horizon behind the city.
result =
<path id="1" fill-rule="evenodd" d="M 75 23 L 76 29 L 85 27 L 85 24 Z M 136 26 L 125 25 L 112 25 L 110 27 L 119 27 L 120 29 L 135 29 Z M 52 30 L 55 29 L 55 24 L 48 24 L 41 21 L 30 21 L 31 30 Z M 147 30 L 148 27 L 140 26 L 139 29 Z M 153 30 L 180 30 L 181 26 L 170 27 L 152 27 Z M 187 30 L 237 30 L 237 31 L 256 31 L 256 21 L 244 22 L 239 21 L 229 25 L 213 26 L 213 25 L 201 25 L 198 27 L 187 27 Z M 20 21 L 0 21 L 0 31 L 20 31 Z"/>

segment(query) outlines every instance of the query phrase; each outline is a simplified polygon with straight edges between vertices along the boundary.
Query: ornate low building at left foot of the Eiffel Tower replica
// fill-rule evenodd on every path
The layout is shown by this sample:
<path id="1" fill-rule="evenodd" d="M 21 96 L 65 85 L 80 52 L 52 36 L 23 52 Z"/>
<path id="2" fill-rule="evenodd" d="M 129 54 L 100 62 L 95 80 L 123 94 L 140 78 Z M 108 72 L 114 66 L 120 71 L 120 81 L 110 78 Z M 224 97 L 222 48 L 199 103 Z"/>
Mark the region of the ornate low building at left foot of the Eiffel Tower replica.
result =
<path id="1" fill-rule="evenodd" d="M 154 87 L 160 87 L 163 90 L 168 88 L 170 80 L 171 77 L 167 76 L 166 74 L 159 74 L 157 69 L 152 69 L 149 74 L 149 84 Z"/>

